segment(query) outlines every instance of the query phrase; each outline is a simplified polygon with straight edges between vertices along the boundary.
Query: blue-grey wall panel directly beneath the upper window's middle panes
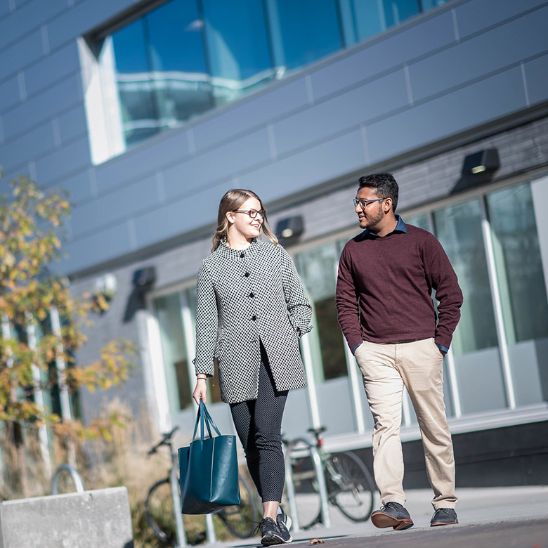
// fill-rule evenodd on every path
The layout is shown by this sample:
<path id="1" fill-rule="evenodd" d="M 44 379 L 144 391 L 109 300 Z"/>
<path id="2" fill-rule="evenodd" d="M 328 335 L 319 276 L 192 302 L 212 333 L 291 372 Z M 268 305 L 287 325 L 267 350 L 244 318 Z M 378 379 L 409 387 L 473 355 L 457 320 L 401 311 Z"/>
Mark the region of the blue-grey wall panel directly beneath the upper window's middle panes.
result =
<path id="1" fill-rule="evenodd" d="M 199 152 L 237 133 L 287 115 L 304 107 L 307 102 L 304 77 L 285 84 L 280 82 L 274 89 L 244 98 L 235 105 L 227 106 L 224 112 L 218 112 L 197 124 L 193 129 L 196 150 Z"/>

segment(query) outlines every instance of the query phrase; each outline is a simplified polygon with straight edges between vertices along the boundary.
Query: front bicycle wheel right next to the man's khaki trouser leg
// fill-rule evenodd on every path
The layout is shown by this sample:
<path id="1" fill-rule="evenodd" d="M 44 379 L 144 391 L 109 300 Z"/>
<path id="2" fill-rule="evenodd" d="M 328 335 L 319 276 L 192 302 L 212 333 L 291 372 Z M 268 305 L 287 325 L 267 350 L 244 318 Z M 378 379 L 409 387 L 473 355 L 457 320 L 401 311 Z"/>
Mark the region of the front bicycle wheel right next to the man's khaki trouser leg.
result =
<path id="1" fill-rule="evenodd" d="M 362 459 L 351 452 L 338 453 L 330 457 L 326 469 L 330 502 L 352 521 L 367 520 L 373 510 L 375 487 Z"/>

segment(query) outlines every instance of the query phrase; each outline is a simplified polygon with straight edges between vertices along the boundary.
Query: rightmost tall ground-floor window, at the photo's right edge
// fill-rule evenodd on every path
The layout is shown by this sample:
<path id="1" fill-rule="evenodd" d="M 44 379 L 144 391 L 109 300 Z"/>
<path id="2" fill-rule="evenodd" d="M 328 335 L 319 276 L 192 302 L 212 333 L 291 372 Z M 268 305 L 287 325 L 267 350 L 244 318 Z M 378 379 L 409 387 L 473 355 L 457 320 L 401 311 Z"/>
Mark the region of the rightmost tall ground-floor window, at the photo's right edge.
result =
<path id="1" fill-rule="evenodd" d="M 486 196 L 516 405 L 546 399 L 548 300 L 530 184 Z"/>

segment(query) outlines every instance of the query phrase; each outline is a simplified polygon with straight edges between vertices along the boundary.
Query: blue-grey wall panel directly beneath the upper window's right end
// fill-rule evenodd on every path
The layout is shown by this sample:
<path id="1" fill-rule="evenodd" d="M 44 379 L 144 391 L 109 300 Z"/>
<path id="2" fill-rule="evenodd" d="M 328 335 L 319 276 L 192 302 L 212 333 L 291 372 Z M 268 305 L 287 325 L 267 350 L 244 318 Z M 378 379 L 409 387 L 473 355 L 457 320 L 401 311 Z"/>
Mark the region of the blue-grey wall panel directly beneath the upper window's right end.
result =
<path id="1" fill-rule="evenodd" d="M 317 99 L 330 95 L 452 42 L 455 32 L 451 13 L 443 11 L 412 27 L 355 46 L 349 55 L 335 56 L 332 63 L 312 72 L 313 96 Z"/>

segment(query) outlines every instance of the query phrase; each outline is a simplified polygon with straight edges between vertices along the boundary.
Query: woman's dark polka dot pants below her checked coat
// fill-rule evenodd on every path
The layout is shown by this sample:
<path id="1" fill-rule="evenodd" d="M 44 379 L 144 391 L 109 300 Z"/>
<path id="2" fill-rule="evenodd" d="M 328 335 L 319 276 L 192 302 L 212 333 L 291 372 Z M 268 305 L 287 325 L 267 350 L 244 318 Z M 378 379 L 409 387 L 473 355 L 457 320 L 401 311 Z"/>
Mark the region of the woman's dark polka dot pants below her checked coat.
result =
<path id="1" fill-rule="evenodd" d="M 256 400 L 231 403 L 230 411 L 242 445 L 249 474 L 263 502 L 281 502 L 285 483 L 282 417 L 287 390 L 278 392 L 261 344 L 259 394 Z"/>

